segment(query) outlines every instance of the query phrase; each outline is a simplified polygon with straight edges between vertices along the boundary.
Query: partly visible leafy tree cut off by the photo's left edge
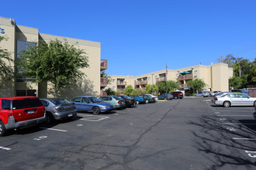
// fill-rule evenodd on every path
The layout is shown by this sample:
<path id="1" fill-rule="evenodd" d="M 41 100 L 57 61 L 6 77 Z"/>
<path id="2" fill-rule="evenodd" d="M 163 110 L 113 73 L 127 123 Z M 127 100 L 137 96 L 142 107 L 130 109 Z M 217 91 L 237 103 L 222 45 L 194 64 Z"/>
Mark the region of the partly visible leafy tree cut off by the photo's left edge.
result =
<path id="1" fill-rule="evenodd" d="M 7 40 L 3 36 L 0 36 L 0 42 L 2 40 Z M 11 53 L 7 49 L 2 49 L 0 47 L 0 76 L 2 78 L 11 78 L 13 76 L 12 68 L 13 59 L 11 58 Z"/>

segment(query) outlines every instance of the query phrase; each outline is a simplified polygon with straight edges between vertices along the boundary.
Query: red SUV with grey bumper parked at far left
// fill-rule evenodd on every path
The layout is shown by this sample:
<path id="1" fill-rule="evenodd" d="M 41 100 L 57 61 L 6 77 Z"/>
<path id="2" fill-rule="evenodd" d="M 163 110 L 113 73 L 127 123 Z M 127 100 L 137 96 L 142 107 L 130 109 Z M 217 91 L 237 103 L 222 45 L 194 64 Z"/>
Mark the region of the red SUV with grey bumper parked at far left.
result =
<path id="1" fill-rule="evenodd" d="M 45 108 L 37 97 L 0 97 L 0 136 L 6 130 L 45 121 Z"/>

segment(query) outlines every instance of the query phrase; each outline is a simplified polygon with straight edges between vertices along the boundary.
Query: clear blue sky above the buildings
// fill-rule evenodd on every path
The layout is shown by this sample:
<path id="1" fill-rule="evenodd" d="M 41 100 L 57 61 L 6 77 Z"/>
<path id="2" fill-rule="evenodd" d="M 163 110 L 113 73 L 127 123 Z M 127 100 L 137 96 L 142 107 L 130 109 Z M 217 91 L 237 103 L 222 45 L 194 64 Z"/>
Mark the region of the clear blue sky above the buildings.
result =
<path id="1" fill-rule="evenodd" d="M 255 0 L 2 0 L 0 16 L 56 36 L 101 42 L 106 73 L 138 76 L 256 57 Z"/>

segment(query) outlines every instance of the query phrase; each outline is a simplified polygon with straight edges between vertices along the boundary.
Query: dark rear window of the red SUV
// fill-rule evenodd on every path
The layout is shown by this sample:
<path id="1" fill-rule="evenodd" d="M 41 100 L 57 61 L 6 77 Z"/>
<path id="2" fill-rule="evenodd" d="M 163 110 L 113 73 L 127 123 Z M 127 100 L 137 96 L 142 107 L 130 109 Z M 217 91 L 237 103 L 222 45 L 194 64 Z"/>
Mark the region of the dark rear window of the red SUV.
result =
<path id="1" fill-rule="evenodd" d="M 39 99 L 12 100 L 12 109 L 24 109 L 30 107 L 41 107 L 43 104 Z"/>

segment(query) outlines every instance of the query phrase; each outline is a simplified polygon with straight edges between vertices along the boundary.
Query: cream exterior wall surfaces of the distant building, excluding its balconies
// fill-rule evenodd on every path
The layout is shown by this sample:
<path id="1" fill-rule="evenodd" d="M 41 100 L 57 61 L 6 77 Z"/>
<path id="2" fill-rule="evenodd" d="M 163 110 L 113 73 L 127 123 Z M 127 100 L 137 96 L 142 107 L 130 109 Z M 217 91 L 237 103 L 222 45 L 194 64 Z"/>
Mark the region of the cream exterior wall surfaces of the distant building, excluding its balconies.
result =
<path id="1" fill-rule="evenodd" d="M 203 80 L 206 83 L 206 88 L 204 90 L 221 90 L 221 91 L 228 91 L 228 79 L 233 76 L 233 69 L 229 68 L 225 63 L 211 63 L 209 66 L 204 65 L 196 65 L 196 66 L 189 66 L 185 68 L 181 68 L 178 70 L 168 70 L 167 80 L 174 80 L 177 81 L 178 77 L 177 74 L 185 71 L 192 71 L 193 79 L 198 78 Z M 195 73 L 196 72 L 196 73 Z M 132 85 L 134 87 L 134 81 L 144 80 L 147 79 L 147 84 L 156 84 L 157 78 L 161 75 L 165 75 L 166 70 L 159 70 L 152 73 L 146 73 L 140 76 L 129 76 L 129 79 L 126 76 L 119 76 L 119 77 L 126 77 L 126 86 Z M 118 77 L 115 75 L 111 75 L 111 77 Z M 153 78 L 153 79 L 152 79 Z M 188 80 L 184 80 L 186 83 Z M 133 82 L 133 83 L 130 83 Z M 108 85 L 106 88 L 111 87 Z M 141 86 L 140 86 L 141 87 Z M 112 87 L 111 87 L 112 88 Z"/>

